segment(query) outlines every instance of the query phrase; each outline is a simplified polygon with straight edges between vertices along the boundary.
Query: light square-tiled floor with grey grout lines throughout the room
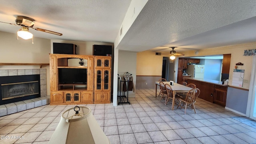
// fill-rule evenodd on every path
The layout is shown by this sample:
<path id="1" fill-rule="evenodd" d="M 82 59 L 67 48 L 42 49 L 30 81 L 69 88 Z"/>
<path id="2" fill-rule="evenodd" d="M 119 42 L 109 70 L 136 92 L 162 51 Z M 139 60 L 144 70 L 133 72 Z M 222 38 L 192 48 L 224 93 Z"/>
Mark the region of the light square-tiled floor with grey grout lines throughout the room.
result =
<path id="1" fill-rule="evenodd" d="M 130 105 L 81 106 L 92 109 L 111 144 L 256 143 L 256 129 L 232 119 L 239 115 L 222 106 L 198 98 L 197 114 L 188 109 L 185 115 L 154 95 L 154 89 L 143 89 L 129 98 Z M 46 105 L 0 117 L 0 144 L 47 144 L 62 112 L 70 107 L 74 105 Z"/>

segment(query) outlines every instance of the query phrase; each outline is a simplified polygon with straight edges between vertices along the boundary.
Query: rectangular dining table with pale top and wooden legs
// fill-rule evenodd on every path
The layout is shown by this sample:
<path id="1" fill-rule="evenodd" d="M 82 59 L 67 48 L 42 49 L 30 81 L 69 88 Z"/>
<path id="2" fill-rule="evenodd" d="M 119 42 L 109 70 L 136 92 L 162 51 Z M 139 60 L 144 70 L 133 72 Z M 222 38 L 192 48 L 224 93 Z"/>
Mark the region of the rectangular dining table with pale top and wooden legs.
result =
<path id="1" fill-rule="evenodd" d="M 157 86 L 160 86 L 160 82 L 155 82 L 156 83 L 156 93 L 157 93 Z M 163 82 L 164 84 L 170 84 L 170 82 Z M 174 104 L 175 104 L 175 95 L 177 92 L 188 92 L 189 90 L 191 90 L 192 88 L 187 87 L 187 86 L 183 86 L 181 84 L 175 83 L 173 82 L 173 85 L 171 85 L 172 88 L 172 96 L 173 96 L 173 100 L 172 100 L 172 110 L 174 110 Z M 156 94 L 157 96 L 157 94 Z"/>

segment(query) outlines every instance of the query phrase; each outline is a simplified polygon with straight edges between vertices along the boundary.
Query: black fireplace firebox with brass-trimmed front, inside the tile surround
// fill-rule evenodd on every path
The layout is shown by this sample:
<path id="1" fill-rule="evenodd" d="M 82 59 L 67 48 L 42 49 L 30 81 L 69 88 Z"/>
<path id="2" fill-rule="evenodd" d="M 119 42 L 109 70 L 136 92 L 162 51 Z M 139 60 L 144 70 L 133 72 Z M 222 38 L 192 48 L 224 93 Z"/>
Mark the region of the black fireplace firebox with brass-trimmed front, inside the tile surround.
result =
<path id="1" fill-rule="evenodd" d="M 40 97 L 40 75 L 1 76 L 0 104 Z"/>

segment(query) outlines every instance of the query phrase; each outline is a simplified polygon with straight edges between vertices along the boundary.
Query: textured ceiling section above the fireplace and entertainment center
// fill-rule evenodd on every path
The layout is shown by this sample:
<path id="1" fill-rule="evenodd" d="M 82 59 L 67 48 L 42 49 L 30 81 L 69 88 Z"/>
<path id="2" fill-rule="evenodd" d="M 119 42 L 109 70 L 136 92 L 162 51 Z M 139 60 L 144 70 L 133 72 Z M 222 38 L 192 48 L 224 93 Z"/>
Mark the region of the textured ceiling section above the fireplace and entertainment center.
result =
<path id="1" fill-rule="evenodd" d="M 17 15 L 35 20 L 34 27 L 60 32 L 55 36 L 30 29 L 36 37 L 111 42 L 116 39 L 131 0 L 0 0 L 0 21 L 14 23 Z M 0 23 L 0 31 L 19 27 Z"/>

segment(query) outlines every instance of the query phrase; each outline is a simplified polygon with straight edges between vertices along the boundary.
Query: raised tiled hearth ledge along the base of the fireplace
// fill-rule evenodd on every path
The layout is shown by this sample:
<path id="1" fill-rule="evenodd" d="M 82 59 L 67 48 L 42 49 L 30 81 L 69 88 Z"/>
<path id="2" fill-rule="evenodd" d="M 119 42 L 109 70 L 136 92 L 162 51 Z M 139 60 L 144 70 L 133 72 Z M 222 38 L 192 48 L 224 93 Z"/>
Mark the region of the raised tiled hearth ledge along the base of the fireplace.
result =
<path id="1" fill-rule="evenodd" d="M 42 96 L 40 98 L 33 98 L 30 100 L 23 100 L 20 102 L 14 102 L 10 104 L 0 105 L 0 117 L 39 106 L 50 104 L 50 96 Z"/>

